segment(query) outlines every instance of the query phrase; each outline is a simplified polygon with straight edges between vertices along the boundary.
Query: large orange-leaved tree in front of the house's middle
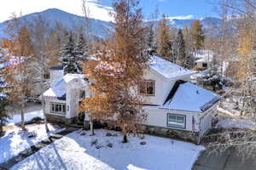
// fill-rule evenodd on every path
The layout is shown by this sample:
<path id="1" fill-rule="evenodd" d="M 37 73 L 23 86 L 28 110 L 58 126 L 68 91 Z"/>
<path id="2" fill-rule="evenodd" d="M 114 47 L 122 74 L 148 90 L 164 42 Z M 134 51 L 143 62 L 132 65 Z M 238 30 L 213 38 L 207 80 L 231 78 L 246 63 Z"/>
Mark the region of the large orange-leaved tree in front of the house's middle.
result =
<path id="1" fill-rule="evenodd" d="M 147 58 L 142 10 L 137 0 L 113 3 L 115 31 L 97 50 L 96 60 L 86 62 L 84 73 L 89 78 L 92 97 L 83 99 L 80 109 L 90 112 L 90 119 L 108 122 L 127 135 L 141 132 L 145 120 L 143 99 L 137 95 L 137 83 L 143 77 Z"/>

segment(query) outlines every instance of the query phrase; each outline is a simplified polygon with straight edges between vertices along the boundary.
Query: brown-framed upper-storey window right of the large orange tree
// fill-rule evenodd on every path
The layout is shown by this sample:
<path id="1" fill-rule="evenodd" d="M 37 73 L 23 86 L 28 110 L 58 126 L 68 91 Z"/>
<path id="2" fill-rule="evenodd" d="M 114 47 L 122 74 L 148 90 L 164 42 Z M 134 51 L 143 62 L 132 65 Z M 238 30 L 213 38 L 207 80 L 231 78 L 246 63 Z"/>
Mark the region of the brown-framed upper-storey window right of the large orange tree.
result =
<path id="1" fill-rule="evenodd" d="M 154 95 L 154 81 L 147 80 L 138 83 L 138 94 Z"/>

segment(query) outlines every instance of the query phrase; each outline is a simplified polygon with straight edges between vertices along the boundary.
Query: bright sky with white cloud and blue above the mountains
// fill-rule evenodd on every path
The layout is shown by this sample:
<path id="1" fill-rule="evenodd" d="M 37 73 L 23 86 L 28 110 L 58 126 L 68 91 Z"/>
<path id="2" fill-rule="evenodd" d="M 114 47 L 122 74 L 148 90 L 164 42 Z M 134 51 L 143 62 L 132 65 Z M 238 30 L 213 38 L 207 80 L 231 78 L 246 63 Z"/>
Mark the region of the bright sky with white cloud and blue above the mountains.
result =
<path id="1" fill-rule="evenodd" d="M 85 0 L 90 9 L 90 17 L 99 20 L 112 20 L 108 12 L 112 10 L 112 0 Z M 160 14 L 178 19 L 200 19 L 216 16 L 212 0 L 141 0 L 145 19 L 150 19 L 155 8 Z M 82 0 L 1 0 L 0 22 L 9 20 L 12 13 L 31 14 L 48 8 L 59 8 L 72 14 L 83 15 Z"/>

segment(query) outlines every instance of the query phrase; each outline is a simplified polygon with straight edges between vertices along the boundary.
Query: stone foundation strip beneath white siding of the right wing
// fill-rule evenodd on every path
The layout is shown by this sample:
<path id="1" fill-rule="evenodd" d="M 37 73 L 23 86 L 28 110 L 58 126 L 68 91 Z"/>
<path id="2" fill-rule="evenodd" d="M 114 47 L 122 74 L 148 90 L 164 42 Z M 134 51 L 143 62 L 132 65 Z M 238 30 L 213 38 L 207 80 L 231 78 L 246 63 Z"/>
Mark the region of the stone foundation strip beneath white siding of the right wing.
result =
<path id="1" fill-rule="evenodd" d="M 184 130 L 143 125 L 143 133 L 160 137 L 166 137 L 170 139 L 183 140 L 194 144 L 199 144 L 200 142 L 199 133 L 192 133 Z"/>

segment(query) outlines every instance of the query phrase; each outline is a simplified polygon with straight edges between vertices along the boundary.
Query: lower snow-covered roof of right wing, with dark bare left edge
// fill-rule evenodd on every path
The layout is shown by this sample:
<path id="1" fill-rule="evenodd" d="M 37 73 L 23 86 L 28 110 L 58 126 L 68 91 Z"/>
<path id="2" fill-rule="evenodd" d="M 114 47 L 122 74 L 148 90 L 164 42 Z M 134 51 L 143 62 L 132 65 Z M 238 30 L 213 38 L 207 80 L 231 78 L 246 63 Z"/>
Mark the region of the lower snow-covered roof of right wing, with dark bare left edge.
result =
<path id="1" fill-rule="evenodd" d="M 218 99 L 218 94 L 200 88 L 191 82 L 183 82 L 177 85 L 172 98 L 160 108 L 203 112 L 218 102 Z"/>

